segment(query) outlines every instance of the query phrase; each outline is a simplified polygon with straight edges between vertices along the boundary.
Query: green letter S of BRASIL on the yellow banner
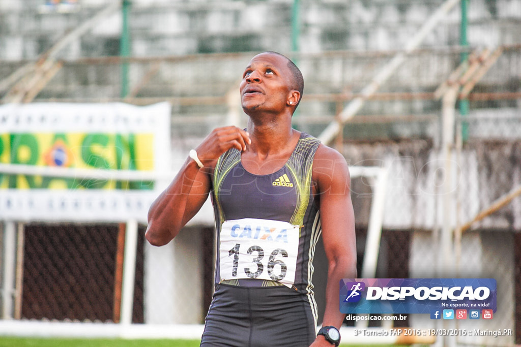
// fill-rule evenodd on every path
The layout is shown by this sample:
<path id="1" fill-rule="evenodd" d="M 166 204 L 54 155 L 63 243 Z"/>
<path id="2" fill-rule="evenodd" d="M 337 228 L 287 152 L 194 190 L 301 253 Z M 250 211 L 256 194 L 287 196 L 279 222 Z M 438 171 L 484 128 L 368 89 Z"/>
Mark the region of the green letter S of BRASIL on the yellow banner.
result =
<path id="1" fill-rule="evenodd" d="M 85 164 L 97 169 L 109 169 L 107 160 L 93 151 L 94 146 L 106 149 L 108 142 L 109 137 L 105 134 L 86 135 L 81 145 L 81 158 Z M 101 189 L 107 182 L 107 179 L 83 179 L 80 185 L 87 189 Z"/>

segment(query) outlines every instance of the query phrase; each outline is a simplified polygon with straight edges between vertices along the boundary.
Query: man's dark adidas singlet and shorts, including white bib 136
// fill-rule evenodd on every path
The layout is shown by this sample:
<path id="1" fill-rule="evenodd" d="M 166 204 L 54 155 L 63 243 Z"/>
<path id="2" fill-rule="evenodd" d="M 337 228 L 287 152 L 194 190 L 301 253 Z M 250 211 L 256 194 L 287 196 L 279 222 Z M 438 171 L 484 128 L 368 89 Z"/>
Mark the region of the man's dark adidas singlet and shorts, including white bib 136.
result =
<path id="1" fill-rule="evenodd" d="M 215 293 L 202 345 L 305 346 L 315 339 L 313 256 L 320 219 L 312 195 L 320 142 L 302 133 L 278 171 L 255 175 L 230 149 L 217 161 Z"/>

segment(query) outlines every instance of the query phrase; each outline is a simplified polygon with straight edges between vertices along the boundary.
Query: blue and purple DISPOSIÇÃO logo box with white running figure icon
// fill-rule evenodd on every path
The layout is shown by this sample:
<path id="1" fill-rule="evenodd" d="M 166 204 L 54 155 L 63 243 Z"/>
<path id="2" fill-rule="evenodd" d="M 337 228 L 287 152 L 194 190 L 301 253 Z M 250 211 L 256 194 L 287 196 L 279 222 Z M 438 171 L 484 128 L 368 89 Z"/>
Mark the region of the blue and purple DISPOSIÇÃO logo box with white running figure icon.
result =
<path id="1" fill-rule="evenodd" d="M 430 313 L 443 309 L 496 311 L 493 278 L 344 278 L 342 313 Z"/>

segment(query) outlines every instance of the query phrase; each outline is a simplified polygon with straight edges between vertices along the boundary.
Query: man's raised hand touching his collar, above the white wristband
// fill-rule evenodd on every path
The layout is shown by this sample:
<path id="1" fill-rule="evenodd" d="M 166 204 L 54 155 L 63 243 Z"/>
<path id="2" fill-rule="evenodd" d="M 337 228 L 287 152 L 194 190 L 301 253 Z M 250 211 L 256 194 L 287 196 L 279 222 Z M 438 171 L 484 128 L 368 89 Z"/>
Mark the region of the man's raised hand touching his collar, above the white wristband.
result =
<path id="1" fill-rule="evenodd" d="M 237 126 L 225 126 L 214 129 L 195 149 L 197 157 L 205 166 L 213 166 L 212 162 L 230 148 L 246 150 L 252 143 L 250 134 Z"/>

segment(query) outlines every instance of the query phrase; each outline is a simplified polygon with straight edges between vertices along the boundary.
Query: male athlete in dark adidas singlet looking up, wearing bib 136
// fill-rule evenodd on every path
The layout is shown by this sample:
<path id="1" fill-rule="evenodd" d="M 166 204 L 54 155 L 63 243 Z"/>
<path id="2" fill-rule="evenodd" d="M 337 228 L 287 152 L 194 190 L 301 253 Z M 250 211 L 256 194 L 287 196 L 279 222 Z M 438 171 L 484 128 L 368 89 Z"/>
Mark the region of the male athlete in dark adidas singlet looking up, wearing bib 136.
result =
<path id="1" fill-rule="evenodd" d="M 215 293 L 202 346 L 338 345 L 339 282 L 356 277 L 348 165 L 291 127 L 300 70 L 274 52 L 256 55 L 240 85 L 246 130 L 215 129 L 148 212 L 147 240 L 162 246 L 212 197 Z M 322 234 L 326 307 L 316 335 L 313 255 Z"/>

